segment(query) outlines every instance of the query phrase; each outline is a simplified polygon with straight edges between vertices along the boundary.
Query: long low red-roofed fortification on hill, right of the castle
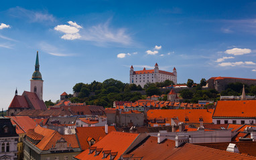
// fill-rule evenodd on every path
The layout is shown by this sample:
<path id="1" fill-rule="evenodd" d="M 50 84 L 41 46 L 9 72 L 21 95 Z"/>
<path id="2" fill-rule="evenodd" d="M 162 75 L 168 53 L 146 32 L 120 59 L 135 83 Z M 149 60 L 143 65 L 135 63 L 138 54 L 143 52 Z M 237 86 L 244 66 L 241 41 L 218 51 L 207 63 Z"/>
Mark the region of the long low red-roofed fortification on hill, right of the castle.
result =
<path id="1" fill-rule="evenodd" d="M 209 89 L 216 89 L 216 91 L 224 91 L 229 83 L 241 82 L 246 85 L 256 85 L 256 79 L 244 79 L 235 77 L 211 77 L 207 81 Z"/>

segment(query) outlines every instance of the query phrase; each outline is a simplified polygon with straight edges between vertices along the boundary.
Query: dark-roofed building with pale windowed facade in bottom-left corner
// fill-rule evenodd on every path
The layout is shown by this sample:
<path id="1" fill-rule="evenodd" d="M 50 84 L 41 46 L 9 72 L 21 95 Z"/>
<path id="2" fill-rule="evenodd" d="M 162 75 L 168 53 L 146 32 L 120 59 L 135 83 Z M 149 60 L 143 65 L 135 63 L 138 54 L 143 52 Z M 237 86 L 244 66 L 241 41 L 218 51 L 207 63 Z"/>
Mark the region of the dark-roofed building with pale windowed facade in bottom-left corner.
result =
<path id="1" fill-rule="evenodd" d="M 0 117 L 0 159 L 17 159 L 17 143 L 19 135 L 15 131 L 15 126 L 11 124 L 11 119 Z"/>

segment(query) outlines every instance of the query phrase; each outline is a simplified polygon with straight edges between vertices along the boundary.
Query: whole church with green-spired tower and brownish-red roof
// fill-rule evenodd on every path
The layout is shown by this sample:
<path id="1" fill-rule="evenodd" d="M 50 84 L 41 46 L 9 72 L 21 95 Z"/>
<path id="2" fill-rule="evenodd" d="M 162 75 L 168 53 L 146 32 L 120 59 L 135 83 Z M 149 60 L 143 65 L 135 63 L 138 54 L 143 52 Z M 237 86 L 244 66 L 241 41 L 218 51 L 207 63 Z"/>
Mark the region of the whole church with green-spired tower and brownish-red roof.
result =
<path id="1" fill-rule="evenodd" d="M 38 52 L 36 54 L 36 65 L 35 71 L 30 80 L 30 92 L 24 91 L 22 95 L 17 95 L 17 89 L 15 91 L 15 96 L 9 105 L 7 110 L 8 116 L 17 115 L 17 113 L 25 109 L 40 109 L 46 110 L 46 105 L 43 101 L 43 79 L 39 71 L 39 59 Z"/>

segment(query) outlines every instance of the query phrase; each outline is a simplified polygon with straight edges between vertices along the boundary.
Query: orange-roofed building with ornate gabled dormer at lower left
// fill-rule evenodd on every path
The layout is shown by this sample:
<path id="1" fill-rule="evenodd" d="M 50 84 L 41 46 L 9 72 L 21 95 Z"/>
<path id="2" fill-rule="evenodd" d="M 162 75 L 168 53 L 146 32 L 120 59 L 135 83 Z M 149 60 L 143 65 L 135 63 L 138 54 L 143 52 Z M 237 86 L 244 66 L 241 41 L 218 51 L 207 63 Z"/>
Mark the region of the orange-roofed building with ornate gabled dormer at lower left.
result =
<path id="1" fill-rule="evenodd" d="M 62 135 L 40 125 L 27 131 L 23 143 L 24 160 L 71 160 L 81 151 L 76 135 Z"/>

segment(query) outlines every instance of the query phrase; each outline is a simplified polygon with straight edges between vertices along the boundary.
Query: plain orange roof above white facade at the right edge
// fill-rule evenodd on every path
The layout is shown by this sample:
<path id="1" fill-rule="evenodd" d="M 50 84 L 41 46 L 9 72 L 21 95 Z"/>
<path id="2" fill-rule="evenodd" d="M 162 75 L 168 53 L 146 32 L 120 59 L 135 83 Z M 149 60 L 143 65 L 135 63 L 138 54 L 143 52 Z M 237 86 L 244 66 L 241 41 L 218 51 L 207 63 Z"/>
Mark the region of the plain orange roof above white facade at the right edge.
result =
<path id="1" fill-rule="evenodd" d="M 212 117 L 256 117 L 256 100 L 218 101 Z"/>

